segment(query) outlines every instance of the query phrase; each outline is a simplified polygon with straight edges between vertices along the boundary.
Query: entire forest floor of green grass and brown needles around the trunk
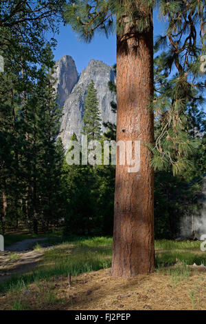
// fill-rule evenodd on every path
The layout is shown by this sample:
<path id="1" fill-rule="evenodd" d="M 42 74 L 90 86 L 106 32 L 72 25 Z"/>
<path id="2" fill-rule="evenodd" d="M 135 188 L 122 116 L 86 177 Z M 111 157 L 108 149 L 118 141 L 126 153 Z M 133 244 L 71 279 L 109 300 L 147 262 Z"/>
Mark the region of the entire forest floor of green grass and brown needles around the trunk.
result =
<path id="1" fill-rule="evenodd" d="M 155 271 L 132 279 L 111 276 L 111 238 L 47 244 L 55 245 L 25 252 L 36 254 L 36 267 L 0 282 L 0 310 L 206 310 L 201 242 L 156 241 Z"/>

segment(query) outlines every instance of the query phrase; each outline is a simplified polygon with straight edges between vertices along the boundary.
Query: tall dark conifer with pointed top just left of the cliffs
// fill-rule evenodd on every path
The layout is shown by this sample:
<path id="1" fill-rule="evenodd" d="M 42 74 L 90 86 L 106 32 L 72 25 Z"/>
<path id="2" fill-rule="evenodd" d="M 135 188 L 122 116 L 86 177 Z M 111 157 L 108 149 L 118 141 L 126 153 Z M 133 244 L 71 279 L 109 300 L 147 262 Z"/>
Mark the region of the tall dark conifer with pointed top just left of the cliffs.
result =
<path id="1" fill-rule="evenodd" d="M 54 206 L 58 203 L 61 165 L 56 152 L 56 137 L 60 128 L 60 109 L 56 102 L 54 84 L 54 55 L 47 48 L 47 61 L 38 71 L 38 80 L 34 94 L 30 99 L 30 117 L 32 129 L 32 222 L 34 232 L 38 223 L 43 230 L 56 222 L 60 216 Z"/>

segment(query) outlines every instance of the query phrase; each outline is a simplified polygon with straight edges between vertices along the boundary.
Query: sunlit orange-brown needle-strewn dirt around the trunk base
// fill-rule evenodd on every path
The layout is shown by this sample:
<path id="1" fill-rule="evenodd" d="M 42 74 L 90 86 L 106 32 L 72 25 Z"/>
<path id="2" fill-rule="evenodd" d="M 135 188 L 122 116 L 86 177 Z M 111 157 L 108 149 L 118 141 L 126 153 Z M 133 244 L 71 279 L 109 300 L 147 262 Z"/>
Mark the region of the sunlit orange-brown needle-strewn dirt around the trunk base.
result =
<path id="1" fill-rule="evenodd" d="M 78 276 L 77 281 L 66 288 L 69 300 L 64 309 L 205 310 L 205 288 L 205 270 L 192 271 L 189 279 L 177 284 L 172 283 L 170 277 L 157 272 L 132 279 L 119 279 L 111 277 L 111 270 L 100 270 Z"/>

